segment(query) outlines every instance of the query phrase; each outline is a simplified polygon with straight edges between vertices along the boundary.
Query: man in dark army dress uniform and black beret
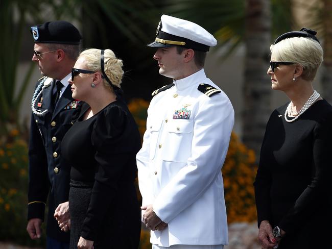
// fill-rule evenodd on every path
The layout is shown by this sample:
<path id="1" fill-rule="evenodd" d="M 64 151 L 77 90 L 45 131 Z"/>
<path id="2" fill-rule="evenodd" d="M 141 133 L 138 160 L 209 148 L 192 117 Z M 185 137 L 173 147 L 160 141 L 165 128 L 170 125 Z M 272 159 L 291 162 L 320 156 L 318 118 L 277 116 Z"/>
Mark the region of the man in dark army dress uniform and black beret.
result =
<path id="1" fill-rule="evenodd" d="M 61 231 L 58 225 L 58 221 L 68 218 L 64 216 L 68 216 L 70 180 L 70 168 L 61 157 L 60 145 L 72 126 L 72 115 L 78 105 L 72 98 L 68 79 L 82 37 L 67 21 L 31 27 L 31 34 L 35 42 L 32 60 L 44 77 L 37 82 L 31 103 L 27 231 L 32 239 L 40 238 L 48 200 L 48 249 L 68 248 L 69 233 Z"/>

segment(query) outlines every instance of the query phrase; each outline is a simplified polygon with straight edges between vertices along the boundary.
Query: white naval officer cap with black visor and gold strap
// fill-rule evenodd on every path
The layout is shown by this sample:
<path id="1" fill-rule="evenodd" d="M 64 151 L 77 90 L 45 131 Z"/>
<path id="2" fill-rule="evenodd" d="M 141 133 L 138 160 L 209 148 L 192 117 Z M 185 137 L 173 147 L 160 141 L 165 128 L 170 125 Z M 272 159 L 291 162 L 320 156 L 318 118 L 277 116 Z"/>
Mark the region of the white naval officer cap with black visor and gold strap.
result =
<path id="1" fill-rule="evenodd" d="M 169 15 L 161 16 L 156 35 L 155 41 L 147 46 L 179 45 L 207 52 L 210 46 L 217 45 L 216 38 L 198 24 Z"/>

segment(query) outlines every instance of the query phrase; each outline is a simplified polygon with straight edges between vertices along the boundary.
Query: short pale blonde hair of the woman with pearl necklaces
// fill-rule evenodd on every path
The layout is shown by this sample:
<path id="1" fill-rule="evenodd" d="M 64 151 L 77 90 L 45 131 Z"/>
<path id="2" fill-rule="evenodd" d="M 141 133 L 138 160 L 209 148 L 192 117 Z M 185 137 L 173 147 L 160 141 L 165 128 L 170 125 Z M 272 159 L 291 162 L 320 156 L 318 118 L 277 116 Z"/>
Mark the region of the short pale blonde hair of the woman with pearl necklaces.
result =
<path id="1" fill-rule="evenodd" d="M 323 49 L 319 42 L 304 37 L 291 37 L 270 46 L 276 61 L 288 61 L 303 67 L 301 77 L 313 81 L 323 62 Z"/>

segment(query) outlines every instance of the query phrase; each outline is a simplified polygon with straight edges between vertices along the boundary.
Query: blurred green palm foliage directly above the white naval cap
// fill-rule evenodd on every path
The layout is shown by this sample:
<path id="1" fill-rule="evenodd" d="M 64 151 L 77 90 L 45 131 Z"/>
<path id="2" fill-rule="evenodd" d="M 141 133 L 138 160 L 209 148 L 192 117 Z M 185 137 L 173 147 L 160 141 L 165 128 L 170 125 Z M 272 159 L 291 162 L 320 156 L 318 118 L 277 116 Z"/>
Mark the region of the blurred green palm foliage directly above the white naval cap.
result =
<path id="1" fill-rule="evenodd" d="M 226 46 L 229 56 L 245 35 L 245 0 L 170 0 L 166 13 L 200 24 L 215 34 L 218 46 Z"/>

